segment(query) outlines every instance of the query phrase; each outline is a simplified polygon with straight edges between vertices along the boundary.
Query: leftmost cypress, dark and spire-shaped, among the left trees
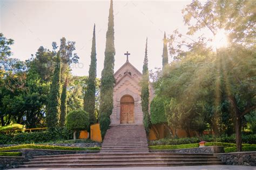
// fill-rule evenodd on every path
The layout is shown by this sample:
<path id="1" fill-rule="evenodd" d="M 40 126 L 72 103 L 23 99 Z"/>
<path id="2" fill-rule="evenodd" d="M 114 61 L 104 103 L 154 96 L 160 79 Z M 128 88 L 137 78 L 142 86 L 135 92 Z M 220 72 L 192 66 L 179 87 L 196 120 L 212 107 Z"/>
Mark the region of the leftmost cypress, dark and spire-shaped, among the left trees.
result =
<path id="1" fill-rule="evenodd" d="M 53 72 L 50 93 L 48 96 L 48 105 L 46 108 L 46 123 L 49 130 L 56 128 L 59 121 L 60 113 L 60 54 L 57 53 L 57 62 Z"/>

